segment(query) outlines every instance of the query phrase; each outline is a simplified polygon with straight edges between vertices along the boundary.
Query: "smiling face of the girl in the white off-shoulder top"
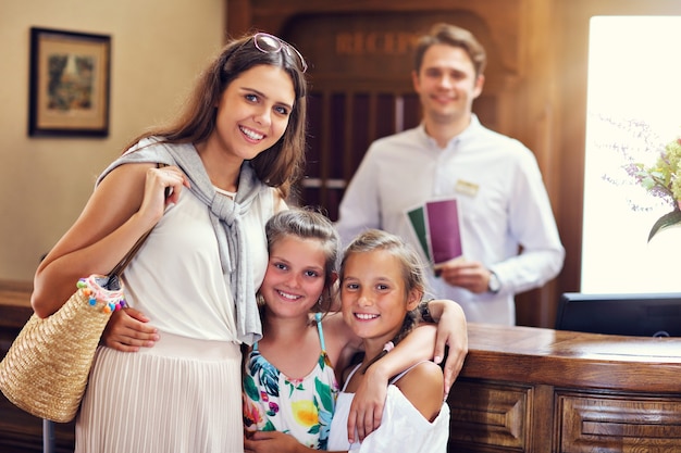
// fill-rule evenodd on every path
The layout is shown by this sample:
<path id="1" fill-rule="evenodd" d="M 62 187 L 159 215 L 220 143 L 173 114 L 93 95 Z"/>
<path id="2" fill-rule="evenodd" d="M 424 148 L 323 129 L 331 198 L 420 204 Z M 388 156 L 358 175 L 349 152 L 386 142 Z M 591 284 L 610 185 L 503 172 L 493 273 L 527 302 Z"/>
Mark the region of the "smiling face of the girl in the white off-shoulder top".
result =
<path id="1" fill-rule="evenodd" d="M 400 331 L 407 311 L 420 300 L 407 292 L 400 261 L 389 251 L 354 252 L 344 264 L 340 282 L 343 318 L 370 347 L 381 350 Z"/>

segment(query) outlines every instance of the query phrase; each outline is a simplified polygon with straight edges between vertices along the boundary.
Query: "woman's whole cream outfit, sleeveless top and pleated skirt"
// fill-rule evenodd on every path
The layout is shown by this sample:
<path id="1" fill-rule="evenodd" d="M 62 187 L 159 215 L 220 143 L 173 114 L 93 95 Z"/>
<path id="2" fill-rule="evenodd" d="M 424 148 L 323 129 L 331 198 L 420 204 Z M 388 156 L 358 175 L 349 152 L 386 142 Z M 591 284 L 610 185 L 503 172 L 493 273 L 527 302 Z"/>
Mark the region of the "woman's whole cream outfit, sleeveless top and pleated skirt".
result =
<path id="1" fill-rule="evenodd" d="M 246 215 L 255 287 L 274 197 Z M 189 190 L 166 210 L 124 274 L 128 303 L 159 329 L 153 348 L 100 347 L 76 419 L 77 453 L 240 453 L 242 354 L 235 306 L 208 207 Z"/>

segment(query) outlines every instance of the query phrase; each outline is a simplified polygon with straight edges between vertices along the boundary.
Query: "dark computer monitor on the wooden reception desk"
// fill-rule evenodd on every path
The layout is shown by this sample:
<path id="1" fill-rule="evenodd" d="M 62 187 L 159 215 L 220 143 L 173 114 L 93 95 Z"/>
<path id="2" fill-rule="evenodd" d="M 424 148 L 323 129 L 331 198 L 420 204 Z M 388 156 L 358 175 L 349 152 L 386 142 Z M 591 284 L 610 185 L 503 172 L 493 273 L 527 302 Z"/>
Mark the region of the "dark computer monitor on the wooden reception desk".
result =
<path id="1" fill-rule="evenodd" d="M 681 337 L 681 293 L 561 294 L 557 330 Z"/>

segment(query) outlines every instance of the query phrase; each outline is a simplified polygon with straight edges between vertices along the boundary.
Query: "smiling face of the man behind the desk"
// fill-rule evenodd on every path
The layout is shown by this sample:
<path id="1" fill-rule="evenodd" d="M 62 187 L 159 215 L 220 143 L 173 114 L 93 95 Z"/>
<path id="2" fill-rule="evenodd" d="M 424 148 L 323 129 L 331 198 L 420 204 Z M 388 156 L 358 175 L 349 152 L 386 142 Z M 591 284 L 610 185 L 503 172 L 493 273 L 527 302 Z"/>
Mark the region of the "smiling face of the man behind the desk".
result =
<path id="1" fill-rule="evenodd" d="M 448 125 L 470 121 L 473 100 L 482 92 L 483 76 L 475 75 L 473 62 L 459 47 L 431 46 L 418 73 L 412 74 L 426 122 Z"/>

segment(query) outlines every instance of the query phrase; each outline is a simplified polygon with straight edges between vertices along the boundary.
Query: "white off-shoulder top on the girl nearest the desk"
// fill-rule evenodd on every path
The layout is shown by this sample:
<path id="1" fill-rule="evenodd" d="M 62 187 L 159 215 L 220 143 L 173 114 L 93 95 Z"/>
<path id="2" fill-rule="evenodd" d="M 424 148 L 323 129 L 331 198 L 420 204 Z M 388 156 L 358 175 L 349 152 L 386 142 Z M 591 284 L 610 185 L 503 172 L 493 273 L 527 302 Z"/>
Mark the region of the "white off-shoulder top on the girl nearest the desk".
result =
<path id="1" fill-rule="evenodd" d="M 360 365 L 357 365 L 347 377 L 346 385 Z M 443 402 L 437 417 L 432 423 L 425 419 L 423 414 L 394 385 L 409 369 L 391 380 L 379 429 L 367 436 L 361 443 L 356 441 L 351 445 L 348 442 L 347 421 L 355 393 L 345 392 L 344 386 L 343 391 L 338 393 L 336 412 L 331 420 L 329 451 L 393 453 L 404 452 L 405 448 L 408 446 L 410 453 L 447 452 L 449 406 L 446 402 Z M 357 432 L 355 433 L 355 439 L 357 439 Z"/>

